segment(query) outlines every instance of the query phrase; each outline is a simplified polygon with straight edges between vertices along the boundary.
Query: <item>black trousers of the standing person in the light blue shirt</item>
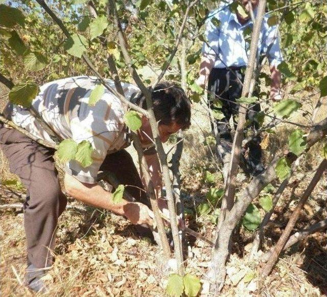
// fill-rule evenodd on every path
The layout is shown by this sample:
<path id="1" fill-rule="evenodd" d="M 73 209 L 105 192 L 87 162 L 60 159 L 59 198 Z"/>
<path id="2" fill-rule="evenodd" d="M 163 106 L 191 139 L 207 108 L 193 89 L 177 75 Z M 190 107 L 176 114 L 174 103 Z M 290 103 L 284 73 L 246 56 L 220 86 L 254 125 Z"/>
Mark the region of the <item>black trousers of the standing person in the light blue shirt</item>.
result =
<path id="1" fill-rule="evenodd" d="M 229 125 L 230 117 L 238 115 L 239 105 L 235 99 L 241 97 L 243 81 L 244 81 L 244 67 L 231 67 L 231 68 L 213 68 L 209 75 L 208 80 L 208 99 L 212 109 L 217 109 L 214 106 L 215 99 L 219 99 L 222 103 L 221 111 L 225 118 L 217 121 L 218 132 L 225 147 L 231 148 L 233 142 L 231 135 L 231 127 Z M 255 115 L 260 111 L 260 104 L 250 104 L 247 111 L 246 118 L 251 123 L 247 129 L 255 130 L 259 128 L 259 123 Z M 235 123 L 235 118 L 234 118 Z M 236 129 L 235 124 L 235 129 Z M 260 171 L 262 150 L 260 146 L 260 136 L 254 137 L 248 144 L 248 157 L 243 159 L 245 169 L 248 173 L 255 173 Z"/>

